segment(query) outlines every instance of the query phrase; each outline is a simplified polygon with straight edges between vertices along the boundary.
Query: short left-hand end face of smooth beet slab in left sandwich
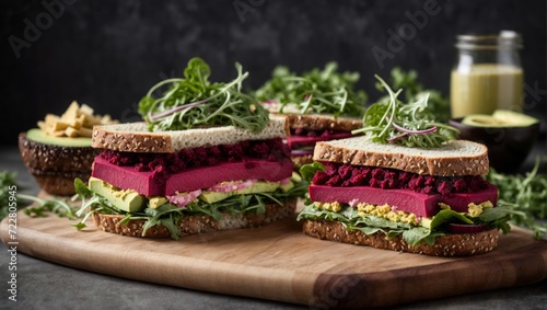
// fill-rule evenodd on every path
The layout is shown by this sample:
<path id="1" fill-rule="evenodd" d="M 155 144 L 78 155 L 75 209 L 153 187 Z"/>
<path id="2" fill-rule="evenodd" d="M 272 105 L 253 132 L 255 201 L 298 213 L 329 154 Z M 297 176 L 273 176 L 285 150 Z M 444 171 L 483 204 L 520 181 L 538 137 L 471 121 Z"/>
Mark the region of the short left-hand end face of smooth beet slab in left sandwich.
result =
<path id="1" fill-rule="evenodd" d="M 148 196 L 161 196 L 165 192 L 164 182 L 154 177 L 152 172 L 139 172 L 132 167 L 115 165 L 101 157 L 95 158 L 91 175 L 116 187 L 133 190 Z"/>

